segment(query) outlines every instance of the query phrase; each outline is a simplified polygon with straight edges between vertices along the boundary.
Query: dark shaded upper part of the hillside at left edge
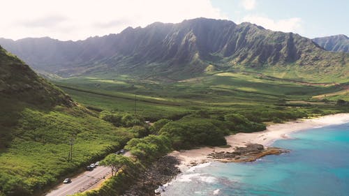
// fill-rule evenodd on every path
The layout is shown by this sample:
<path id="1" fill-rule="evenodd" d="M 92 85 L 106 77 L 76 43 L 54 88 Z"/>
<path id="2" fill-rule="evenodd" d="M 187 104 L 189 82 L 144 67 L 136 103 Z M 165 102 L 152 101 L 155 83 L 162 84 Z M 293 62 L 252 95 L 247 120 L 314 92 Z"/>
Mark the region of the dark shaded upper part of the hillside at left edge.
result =
<path id="1" fill-rule="evenodd" d="M 52 107 L 74 103 L 60 89 L 41 77 L 16 56 L 0 47 L 0 94 L 2 98 L 22 100 Z"/>

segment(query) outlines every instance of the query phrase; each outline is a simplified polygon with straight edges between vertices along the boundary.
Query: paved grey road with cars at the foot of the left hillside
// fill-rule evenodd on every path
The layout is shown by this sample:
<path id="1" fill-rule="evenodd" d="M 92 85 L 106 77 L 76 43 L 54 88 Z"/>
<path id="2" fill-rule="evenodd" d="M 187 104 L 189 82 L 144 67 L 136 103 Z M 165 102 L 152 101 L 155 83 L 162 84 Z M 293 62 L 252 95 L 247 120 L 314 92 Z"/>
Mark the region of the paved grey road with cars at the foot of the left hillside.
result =
<path id="1" fill-rule="evenodd" d="M 107 177 L 112 172 L 109 167 L 98 166 L 92 171 L 86 171 L 71 179 L 71 183 L 64 184 L 53 188 L 47 196 L 66 196 L 75 193 L 81 193 L 91 189 L 103 180 L 103 176 Z"/>

